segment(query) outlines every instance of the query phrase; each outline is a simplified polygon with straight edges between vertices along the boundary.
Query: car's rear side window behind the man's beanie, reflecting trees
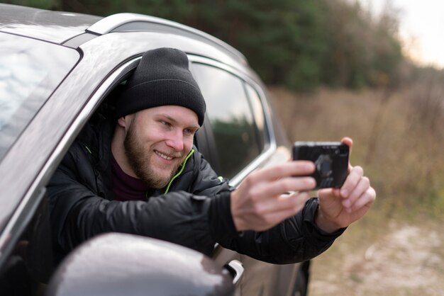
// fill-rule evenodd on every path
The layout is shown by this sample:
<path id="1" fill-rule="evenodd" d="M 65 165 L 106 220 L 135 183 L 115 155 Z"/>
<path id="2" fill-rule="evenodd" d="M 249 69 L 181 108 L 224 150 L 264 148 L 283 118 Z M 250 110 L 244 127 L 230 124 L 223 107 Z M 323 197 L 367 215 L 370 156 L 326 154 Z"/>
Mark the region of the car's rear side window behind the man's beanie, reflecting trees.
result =
<path id="1" fill-rule="evenodd" d="M 214 137 L 216 168 L 232 178 L 264 148 L 264 118 L 257 93 L 229 72 L 204 64 L 192 66 L 206 100 Z M 250 101 L 248 93 L 256 96 Z"/>

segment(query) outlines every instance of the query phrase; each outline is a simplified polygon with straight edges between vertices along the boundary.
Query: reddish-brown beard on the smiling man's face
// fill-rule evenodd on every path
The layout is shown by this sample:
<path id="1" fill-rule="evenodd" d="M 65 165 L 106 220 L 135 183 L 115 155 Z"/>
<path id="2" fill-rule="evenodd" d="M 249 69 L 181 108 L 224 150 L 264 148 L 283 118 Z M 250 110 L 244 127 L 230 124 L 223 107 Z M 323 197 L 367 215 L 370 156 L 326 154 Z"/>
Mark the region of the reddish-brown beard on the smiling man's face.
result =
<path id="1" fill-rule="evenodd" d="M 182 161 L 179 161 L 174 165 L 170 174 L 156 173 L 153 164 L 151 163 L 151 159 L 152 157 L 157 157 L 157 155 L 155 155 L 152 147 L 148 149 L 143 147 L 138 140 L 133 126 L 129 127 L 123 145 L 126 150 L 128 164 L 130 164 L 135 175 L 138 176 L 140 180 L 144 181 L 150 188 L 161 189 L 167 186 L 184 159 L 182 152 L 173 152 L 171 154 L 174 154 L 175 157 L 182 158 Z"/>

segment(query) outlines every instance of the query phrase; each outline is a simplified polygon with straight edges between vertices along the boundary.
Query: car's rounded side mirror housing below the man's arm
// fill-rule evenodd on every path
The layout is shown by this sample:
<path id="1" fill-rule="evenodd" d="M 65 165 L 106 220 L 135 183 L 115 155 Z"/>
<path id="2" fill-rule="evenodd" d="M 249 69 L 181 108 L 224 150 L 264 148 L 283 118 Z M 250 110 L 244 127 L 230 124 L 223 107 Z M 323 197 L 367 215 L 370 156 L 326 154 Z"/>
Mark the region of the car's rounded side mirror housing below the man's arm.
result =
<path id="1" fill-rule="evenodd" d="M 184 246 L 131 234 L 102 234 L 65 258 L 48 296 L 233 295 L 231 274 Z"/>

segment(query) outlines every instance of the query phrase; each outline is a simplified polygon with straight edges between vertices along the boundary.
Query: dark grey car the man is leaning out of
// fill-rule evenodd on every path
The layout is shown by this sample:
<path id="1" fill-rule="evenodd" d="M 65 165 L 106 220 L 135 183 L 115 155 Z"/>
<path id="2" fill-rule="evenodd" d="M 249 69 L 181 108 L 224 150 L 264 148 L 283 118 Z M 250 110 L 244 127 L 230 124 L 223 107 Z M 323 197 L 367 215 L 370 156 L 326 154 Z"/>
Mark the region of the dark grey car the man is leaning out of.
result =
<path id="1" fill-rule="evenodd" d="M 274 265 L 217 244 L 207 258 L 148 237 L 104 234 L 52 263 L 48 181 L 147 50 L 187 53 L 207 104 L 196 147 L 232 186 L 290 158 L 272 98 L 238 50 L 153 16 L 9 4 L 0 4 L 0 43 L 1 295 L 306 295 L 310 261 Z M 125 276 L 134 271 L 140 276 Z"/>

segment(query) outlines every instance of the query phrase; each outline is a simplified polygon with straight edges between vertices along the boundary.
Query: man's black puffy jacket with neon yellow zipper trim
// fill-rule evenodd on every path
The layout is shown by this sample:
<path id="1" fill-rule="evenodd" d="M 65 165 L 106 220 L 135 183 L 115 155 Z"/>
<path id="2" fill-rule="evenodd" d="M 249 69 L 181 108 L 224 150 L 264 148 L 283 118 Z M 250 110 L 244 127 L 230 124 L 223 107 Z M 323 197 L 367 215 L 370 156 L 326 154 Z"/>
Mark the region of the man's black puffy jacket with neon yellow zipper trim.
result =
<path id="1" fill-rule="evenodd" d="M 270 263 L 313 258 L 342 231 L 323 234 L 313 224 L 317 200 L 266 232 L 236 232 L 230 210 L 233 188 L 195 152 L 169 192 L 152 190 L 146 201 L 114 200 L 111 181 L 113 125 L 95 118 L 77 137 L 48 184 L 55 252 L 60 260 L 75 246 L 104 232 L 125 232 L 171 241 L 211 254 L 221 244 Z"/>

